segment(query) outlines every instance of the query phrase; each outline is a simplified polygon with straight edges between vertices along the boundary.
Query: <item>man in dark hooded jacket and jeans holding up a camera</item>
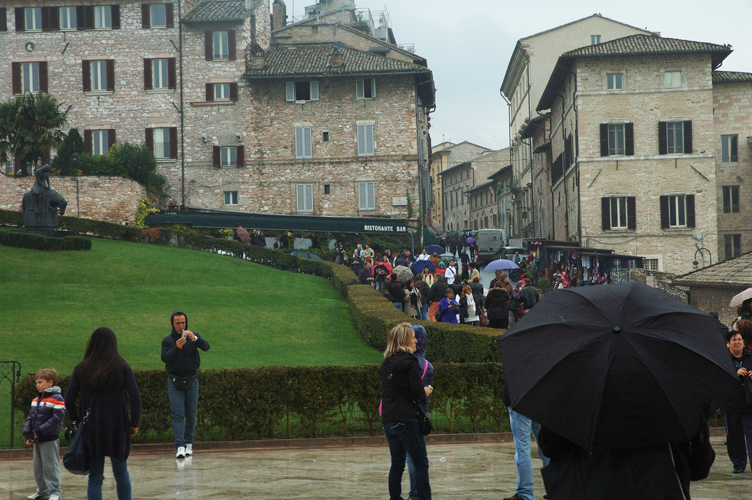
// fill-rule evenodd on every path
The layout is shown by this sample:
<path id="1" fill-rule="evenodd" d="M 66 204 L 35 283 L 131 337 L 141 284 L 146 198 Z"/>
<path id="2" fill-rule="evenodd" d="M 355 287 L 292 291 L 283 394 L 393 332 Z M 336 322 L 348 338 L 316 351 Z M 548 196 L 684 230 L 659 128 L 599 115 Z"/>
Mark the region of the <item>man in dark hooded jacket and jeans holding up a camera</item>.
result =
<path id="1" fill-rule="evenodd" d="M 188 330 L 188 317 L 175 311 L 170 317 L 172 332 L 162 340 L 162 361 L 167 370 L 167 394 L 172 410 L 172 433 L 177 458 L 193 455 L 193 431 L 198 406 L 198 350 L 209 350 L 209 342 Z"/>

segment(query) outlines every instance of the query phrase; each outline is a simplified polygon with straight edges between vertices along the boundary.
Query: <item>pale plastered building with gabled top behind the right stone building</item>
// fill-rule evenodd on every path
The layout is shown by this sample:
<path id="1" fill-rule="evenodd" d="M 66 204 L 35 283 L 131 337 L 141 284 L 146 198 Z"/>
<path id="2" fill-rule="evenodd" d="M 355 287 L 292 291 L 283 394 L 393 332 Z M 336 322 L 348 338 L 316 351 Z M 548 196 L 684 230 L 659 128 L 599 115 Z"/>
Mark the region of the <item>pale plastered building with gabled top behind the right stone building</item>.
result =
<path id="1" fill-rule="evenodd" d="M 535 107 L 543 94 L 558 57 L 587 44 L 599 44 L 634 34 L 652 34 L 613 19 L 593 14 L 518 40 L 501 84 L 502 97 L 510 107 L 509 142 L 513 165 L 512 237 L 534 237 L 541 233 L 539 221 L 544 204 L 536 196 L 531 141 L 523 131 L 538 116 Z M 533 209 L 535 208 L 535 209 Z M 523 217 L 523 214 L 525 217 Z"/>

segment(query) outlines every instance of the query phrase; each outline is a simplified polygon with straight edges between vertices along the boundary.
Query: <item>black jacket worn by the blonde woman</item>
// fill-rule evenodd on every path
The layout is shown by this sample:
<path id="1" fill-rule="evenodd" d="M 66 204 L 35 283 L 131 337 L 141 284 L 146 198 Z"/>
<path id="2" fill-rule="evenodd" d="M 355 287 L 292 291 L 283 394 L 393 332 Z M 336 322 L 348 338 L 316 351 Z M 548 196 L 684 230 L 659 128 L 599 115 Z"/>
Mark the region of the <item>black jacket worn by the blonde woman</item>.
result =
<path id="1" fill-rule="evenodd" d="M 381 363 L 381 421 L 417 420 L 412 401 L 425 401 L 418 358 L 398 352 Z"/>

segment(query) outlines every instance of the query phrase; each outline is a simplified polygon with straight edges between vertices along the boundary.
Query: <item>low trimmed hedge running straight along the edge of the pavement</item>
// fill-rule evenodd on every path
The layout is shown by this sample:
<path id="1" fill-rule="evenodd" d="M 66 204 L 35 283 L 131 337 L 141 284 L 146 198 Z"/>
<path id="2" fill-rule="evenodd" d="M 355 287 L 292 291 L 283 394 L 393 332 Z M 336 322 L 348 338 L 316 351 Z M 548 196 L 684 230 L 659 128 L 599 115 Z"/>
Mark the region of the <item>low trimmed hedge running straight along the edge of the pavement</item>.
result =
<path id="1" fill-rule="evenodd" d="M 472 432 L 506 426 L 499 363 L 435 367 L 431 415 L 438 432 L 456 431 L 459 420 Z M 378 365 L 200 370 L 196 433 L 203 441 L 378 433 L 380 380 Z M 63 394 L 69 381 L 66 375 L 58 382 Z M 136 381 L 143 402 L 136 439 L 171 441 L 166 373 L 137 371 Z M 33 377 L 18 386 L 16 408 L 24 416 L 36 395 Z"/>

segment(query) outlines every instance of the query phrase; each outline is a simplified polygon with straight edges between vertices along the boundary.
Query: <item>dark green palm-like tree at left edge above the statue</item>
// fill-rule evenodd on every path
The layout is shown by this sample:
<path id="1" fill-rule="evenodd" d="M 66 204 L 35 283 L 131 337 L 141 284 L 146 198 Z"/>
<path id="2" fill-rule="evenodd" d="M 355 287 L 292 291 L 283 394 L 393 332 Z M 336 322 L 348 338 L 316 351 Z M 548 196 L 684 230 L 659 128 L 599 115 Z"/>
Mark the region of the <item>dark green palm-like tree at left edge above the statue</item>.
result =
<path id="1" fill-rule="evenodd" d="M 49 94 L 23 94 L 0 104 L 0 162 L 10 153 L 22 164 L 34 164 L 65 139 L 68 122 L 62 103 Z"/>

